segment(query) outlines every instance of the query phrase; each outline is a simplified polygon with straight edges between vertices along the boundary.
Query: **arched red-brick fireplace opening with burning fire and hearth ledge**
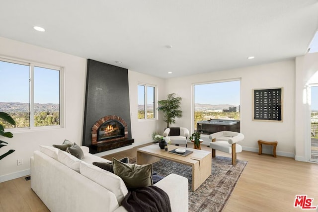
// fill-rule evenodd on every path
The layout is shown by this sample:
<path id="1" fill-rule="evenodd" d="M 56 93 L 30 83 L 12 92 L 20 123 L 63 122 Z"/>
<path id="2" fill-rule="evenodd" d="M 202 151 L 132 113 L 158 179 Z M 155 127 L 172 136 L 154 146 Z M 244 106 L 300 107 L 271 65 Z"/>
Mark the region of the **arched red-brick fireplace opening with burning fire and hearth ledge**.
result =
<path id="1" fill-rule="evenodd" d="M 116 115 L 102 117 L 91 128 L 91 146 L 97 151 L 119 148 L 133 142 L 128 138 L 126 121 Z"/>

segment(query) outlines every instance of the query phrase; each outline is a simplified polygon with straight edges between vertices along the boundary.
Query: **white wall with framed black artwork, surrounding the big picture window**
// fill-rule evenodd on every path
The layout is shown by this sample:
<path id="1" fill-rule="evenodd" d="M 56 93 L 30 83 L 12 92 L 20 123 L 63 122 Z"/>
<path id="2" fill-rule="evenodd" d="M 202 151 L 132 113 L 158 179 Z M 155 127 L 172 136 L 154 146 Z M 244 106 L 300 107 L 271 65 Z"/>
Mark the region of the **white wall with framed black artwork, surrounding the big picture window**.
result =
<path id="1" fill-rule="evenodd" d="M 261 66 L 240 68 L 228 71 L 210 72 L 168 79 L 167 93 L 176 93 L 182 97 L 183 117 L 177 119 L 174 126 L 192 128 L 193 83 L 212 82 L 225 79 L 241 79 L 241 133 L 245 139 L 243 149 L 258 151 L 258 140 L 278 141 L 277 154 L 294 157 L 295 153 L 295 62 L 288 60 Z M 283 122 L 252 121 L 252 89 L 283 87 Z M 205 139 L 205 141 L 208 141 Z M 264 152 L 270 152 L 270 146 L 264 146 Z"/>

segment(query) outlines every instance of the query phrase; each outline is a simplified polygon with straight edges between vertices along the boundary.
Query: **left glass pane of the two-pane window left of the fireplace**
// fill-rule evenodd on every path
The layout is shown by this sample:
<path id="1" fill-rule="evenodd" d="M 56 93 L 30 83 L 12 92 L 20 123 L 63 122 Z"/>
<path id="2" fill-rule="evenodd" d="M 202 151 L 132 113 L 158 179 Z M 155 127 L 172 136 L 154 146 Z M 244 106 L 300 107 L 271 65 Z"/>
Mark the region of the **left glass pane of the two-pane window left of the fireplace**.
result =
<path id="1" fill-rule="evenodd" d="M 29 66 L 0 61 L 1 87 L 5 89 L 0 95 L 0 111 L 16 122 L 12 126 L 0 120 L 4 128 L 30 126 L 29 75 Z"/>

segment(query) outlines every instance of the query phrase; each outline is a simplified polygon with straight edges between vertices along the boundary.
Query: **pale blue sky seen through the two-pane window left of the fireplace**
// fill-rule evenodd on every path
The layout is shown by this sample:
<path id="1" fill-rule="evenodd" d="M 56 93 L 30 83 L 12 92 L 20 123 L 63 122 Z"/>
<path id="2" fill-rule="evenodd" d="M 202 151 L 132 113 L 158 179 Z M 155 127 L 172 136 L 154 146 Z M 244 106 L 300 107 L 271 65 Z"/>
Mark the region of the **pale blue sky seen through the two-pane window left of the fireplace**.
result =
<path id="1" fill-rule="evenodd" d="M 29 66 L 0 61 L 0 102 L 29 103 Z M 59 103 L 59 71 L 34 67 L 34 103 Z"/>

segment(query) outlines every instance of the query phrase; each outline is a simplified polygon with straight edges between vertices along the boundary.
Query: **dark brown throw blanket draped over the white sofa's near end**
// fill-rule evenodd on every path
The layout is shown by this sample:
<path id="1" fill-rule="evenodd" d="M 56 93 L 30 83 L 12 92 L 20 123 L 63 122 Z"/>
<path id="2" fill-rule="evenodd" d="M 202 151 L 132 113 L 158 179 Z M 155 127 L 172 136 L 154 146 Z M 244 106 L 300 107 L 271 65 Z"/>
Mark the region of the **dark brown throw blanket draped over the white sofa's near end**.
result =
<path id="1" fill-rule="evenodd" d="M 128 192 L 121 205 L 128 212 L 171 212 L 168 195 L 157 186 Z"/>

